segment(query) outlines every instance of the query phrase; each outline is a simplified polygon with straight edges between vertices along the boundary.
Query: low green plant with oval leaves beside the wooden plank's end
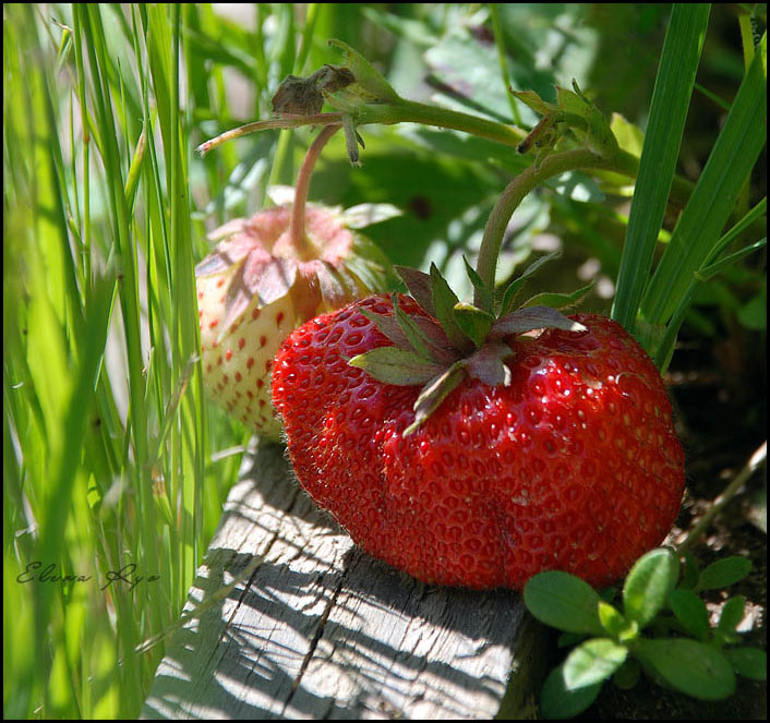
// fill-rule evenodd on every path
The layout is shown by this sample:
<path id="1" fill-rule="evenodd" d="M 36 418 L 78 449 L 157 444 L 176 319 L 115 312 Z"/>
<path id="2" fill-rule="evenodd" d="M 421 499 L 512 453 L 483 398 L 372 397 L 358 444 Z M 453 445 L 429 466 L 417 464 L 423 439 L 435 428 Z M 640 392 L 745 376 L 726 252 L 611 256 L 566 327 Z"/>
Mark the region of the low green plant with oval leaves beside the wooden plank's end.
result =
<path id="1" fill-rule="evenodd" d="M 575 646 L 543 684 L 545 718 L 577 715 L 606 680 L 630 688 L 641 672 L 701 700 L 732 696 L 736 675 L 766 679 L 766 653 L 742 644 L 737 631 L 746 599 L 730 598 L 712 625 L 699 595 L 743 579 L 750 561 L 725 557 L 702 570 L 691 555 L 685 553 L 684 561 L 669 547 L 645 554 L 625 579 L 619 605 L 612 602 L 615 590 L 602 594 L 568 573 L 540 573 L 529 580 L 524 600 L 530 613 L 563 630 L 560 646 Z"/>

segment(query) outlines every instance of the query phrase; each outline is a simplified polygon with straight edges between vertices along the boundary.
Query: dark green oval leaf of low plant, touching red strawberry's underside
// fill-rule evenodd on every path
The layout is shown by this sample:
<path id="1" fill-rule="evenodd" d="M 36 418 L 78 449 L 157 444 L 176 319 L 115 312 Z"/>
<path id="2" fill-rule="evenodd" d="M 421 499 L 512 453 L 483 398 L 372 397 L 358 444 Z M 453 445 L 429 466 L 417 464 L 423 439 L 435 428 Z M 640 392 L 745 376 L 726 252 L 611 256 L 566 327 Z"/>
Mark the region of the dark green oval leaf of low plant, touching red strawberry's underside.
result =
<path id="1" fill-rule="evenodd" d="M 588 582 L 561 570 L 539 573 L 524 588 L 527 610 L 541 623 L 567 632 L 604 635 L 600 600 Z"/>

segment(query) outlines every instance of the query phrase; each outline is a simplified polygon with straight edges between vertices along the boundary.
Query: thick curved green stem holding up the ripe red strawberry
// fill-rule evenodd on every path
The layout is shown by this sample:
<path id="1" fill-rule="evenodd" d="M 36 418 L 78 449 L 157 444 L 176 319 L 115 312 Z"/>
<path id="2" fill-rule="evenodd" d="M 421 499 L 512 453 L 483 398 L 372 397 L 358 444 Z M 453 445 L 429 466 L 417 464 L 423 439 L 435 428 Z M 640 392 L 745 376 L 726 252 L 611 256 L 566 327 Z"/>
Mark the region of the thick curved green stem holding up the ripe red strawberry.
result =
<path id="1" fill-rule="evenodd" d="M 524 197 L 537 185 L 553 176 L 578 168 L 613 168 L 612 159 L 605 159 L 588 148 L 574 148 L 548 156 L 539 166 L 534 164 L 521 171 L 503 191 L 484 227 L 484 236 L 479 251 L 477 272 L 486 289 L 494 289 L 497 256 L 505 237 L 505 229 Z M 486 297 L 486 298 L 485 298 Z M 492 312 L 494 294 L 484 294 L 477 288 L 473 303 Z"/>

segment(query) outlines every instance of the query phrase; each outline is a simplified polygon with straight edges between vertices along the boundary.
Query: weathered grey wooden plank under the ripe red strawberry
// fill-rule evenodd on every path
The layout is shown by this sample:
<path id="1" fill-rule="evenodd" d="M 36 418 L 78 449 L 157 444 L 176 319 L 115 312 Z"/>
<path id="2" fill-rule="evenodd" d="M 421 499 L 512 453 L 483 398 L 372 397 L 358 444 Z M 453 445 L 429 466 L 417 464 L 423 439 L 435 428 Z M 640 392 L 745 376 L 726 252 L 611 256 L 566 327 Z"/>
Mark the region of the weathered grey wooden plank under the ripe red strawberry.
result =
<path id="1" fill-rule="evenodd" d="M 254 558 L 258 557 L 258 561 Z M 425 586 L 356 547 L 276 445 L 244 459 L 143 718 L 531 716 L 540 628 L 520 597 Z"/>

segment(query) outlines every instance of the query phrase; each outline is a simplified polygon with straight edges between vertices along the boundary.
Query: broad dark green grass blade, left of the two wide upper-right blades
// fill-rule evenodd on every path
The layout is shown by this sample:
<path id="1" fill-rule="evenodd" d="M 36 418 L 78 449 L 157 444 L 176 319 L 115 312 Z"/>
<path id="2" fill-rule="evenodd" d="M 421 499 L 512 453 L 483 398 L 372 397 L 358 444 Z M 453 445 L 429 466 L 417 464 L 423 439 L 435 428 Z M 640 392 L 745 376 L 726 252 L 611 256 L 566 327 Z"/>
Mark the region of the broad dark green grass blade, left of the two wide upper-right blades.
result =
<path id="1" fill-rule="evenodd" d="M 612 309 L 612 317 L 631 330 L 669 201 L 709 11 L 709 4 L 676 3 L 663 45 Z"/>

